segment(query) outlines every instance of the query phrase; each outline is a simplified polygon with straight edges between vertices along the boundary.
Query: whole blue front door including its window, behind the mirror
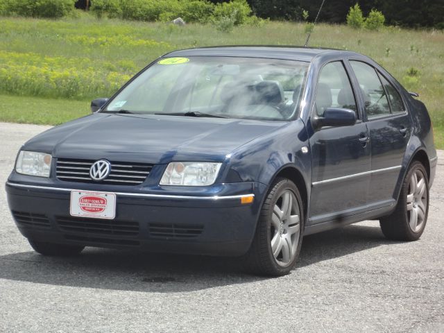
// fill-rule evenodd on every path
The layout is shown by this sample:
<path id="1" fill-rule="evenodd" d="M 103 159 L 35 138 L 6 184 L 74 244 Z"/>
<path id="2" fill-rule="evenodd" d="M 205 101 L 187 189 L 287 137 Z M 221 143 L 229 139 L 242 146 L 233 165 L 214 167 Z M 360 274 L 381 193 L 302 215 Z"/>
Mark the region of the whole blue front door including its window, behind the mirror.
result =
<path id="1" fill-rule="evenodd" d="M 323 67 L 318 78 L 312 117 L 330 107 L 355 110 L 355 94 L 341 61 Z M 309 139 L 312 160 L 310 223 L 341 219 L 364 207 L 370 185 L 370 144 L 366 123 L 325 127 Z"/>

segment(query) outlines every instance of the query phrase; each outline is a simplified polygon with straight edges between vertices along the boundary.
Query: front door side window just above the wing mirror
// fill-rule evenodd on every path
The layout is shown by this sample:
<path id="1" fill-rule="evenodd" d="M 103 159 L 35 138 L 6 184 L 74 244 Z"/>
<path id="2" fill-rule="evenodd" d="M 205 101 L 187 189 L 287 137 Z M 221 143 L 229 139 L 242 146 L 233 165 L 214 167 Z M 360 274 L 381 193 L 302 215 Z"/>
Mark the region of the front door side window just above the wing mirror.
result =
<path id="1" fill-rule="evenodd" d="M 330 62 L 321 70 L 314 108 L 321 117 L 327 108 L 345 108 L 357 112 L 355 95 L 342 62 Z"/>

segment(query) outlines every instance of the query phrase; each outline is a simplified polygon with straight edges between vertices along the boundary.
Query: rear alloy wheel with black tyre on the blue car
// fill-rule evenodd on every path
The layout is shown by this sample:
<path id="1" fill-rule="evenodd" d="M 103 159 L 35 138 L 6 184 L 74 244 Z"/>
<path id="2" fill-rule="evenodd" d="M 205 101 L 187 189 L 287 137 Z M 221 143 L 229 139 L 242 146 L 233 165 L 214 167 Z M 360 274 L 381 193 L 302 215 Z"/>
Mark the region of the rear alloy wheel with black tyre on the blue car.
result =
<path id="1" fill-rule="evenodd" d="M 418 161 L 407 172 L 395 212 L 380 220 L 382 233 L 396 241 L 416 241 L 424 232 L 429 212 L 429 180 Z"/>

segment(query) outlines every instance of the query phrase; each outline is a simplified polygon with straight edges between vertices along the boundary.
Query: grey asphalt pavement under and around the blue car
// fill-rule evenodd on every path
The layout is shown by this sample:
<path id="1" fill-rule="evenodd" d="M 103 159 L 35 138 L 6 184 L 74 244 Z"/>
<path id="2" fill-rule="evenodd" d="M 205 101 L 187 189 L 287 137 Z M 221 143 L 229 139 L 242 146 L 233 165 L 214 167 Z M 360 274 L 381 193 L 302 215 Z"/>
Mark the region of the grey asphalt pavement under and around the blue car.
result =
<path id="1" fill-rule="evenodd" d="M 46 126 L 0 123 L 0 184 Z M 377 221 L 305 237 L 282 278 L 235 259 L 86 248 L 42 257 L 0 190 L 0 332 L 444 332 L 444 151 L 416 242 Z"/>

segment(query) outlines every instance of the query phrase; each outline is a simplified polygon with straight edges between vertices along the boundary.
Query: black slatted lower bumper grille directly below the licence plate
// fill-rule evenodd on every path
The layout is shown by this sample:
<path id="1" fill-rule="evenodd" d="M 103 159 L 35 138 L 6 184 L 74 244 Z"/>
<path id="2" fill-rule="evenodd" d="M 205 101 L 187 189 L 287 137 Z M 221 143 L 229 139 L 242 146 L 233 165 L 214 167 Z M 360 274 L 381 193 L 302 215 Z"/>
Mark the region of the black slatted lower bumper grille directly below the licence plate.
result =
<path id="1" fill-rule="evenodd" d="M 60 230 L 65 232 L 88 232 L 116 236 L 137 236 L 139 234 L 138 222 L 57 216 L 56 223 Z"/>

